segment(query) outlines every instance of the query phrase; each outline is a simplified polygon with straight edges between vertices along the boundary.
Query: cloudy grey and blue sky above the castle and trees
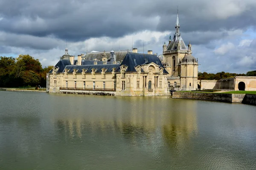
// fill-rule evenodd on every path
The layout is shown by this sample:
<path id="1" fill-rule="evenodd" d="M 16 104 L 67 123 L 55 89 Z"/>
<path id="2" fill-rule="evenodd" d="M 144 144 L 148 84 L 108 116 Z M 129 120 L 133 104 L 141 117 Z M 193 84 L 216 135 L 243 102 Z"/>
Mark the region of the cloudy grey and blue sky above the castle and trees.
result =
<path id="1" fill-rule="evenodd" d="M 29 54 L 43 66 L 64 54 L 133 47 L 162 54 L 180 32 L 199 71 L 256 70 L 256 0 L 0 0 L 0 55 Z"/>

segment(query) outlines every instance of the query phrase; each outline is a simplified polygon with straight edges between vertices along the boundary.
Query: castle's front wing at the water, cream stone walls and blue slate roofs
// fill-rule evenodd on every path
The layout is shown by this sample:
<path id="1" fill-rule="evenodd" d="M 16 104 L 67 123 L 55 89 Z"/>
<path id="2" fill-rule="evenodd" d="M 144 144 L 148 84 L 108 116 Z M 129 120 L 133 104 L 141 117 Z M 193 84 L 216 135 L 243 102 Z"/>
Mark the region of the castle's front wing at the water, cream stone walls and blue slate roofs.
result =
<path id="1" fill-rule="evenodd" d="M 114 54 L 114 51 L 111 53 Z M 89 65 L 81 63 L 72 65 L 68 54 L 64 55 L 48 74 L 49 93 L 93 94 L 94 92 L 87 91 L 100 91 L 97 94 L 168 95 L 168 72 L 157 56 L 151 53 L 127 52 L 123 61 L 116 64 L 116 61 L 107 62 L 108 58 L 104 52 L 101 61 L 86 61 Z M 78 62 L 81 61 L 78 59 Z M 93 65 L 90 64 L 91 62 Z"/>

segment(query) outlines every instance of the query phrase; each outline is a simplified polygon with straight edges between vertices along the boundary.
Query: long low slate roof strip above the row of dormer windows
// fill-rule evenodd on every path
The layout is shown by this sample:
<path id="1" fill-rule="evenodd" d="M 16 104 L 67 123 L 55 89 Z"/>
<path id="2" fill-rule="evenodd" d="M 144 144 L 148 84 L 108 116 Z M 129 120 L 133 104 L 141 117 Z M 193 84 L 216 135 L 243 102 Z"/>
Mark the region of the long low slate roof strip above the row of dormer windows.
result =
<path id="1" fill-rule="evenodd" d="M 102 72 L 102 68 L 107 68 L 106 73 L 111 73 L 113 68 L 116 68 L 116 72 L 120 72 L 119 70 L 119 65 L 120 64 L 101 64 L 101 65 L 66 65 L 66 67 L 63 69 L 63 73 L 65 71 L 65 69 L 69 69 L 70 71 L 68 71 L 68 73 L 73 73 L 74 69 L 78 69 L 78 71 L 76 73 L 82 73 L 82 69 L 87 69 L 87 71 L 85 73 L 91 73 L 92 69 L 95 68 L 97 69 L 95 71 L 95 73 L 101 73 Z"/>

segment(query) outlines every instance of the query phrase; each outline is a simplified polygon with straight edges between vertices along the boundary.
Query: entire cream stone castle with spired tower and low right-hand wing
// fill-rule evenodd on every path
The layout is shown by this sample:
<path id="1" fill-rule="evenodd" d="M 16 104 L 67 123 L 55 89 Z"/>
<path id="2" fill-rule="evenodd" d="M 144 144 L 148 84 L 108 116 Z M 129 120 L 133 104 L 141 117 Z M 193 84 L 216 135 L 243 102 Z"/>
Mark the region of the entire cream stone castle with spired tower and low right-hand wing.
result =
<path id="1" fill-rule="evenodd" d="M 175 34 L 169 37 L 168 44 L 164 43 L 163 55 L 159 57 L 151 50 L 148 54 L 139 54 L 137 48 L 93 51 L 78 55 L 77 60 L 74 57 L 66 48 L 47 75 L 49 93 L 162 96 L 168 95 L 169 90 L 256 89 L 256 83 L 250 83 L 255 81 L 252 77 L 198 81 L 198 59 L 192 56 L 191 43 L 186 47 L 181 37 L 178 14 Z M 243 84 L 241 79 L 244 79 Z"/>

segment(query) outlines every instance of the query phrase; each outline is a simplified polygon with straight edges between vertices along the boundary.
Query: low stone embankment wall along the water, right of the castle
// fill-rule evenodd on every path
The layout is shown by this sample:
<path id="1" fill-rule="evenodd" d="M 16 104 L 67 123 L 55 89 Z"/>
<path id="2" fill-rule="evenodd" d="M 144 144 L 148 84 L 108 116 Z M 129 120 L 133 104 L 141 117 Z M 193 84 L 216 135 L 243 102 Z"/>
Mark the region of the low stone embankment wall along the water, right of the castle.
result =
<path id="1" fill-rule="evenodd" d="M 217 102 L 244 103 L 256 105 L 256 95 L 253 94 L 223 94 L 223 93 L 196 93 L 175 91 L 173 99 L 197 99 Z"/>

